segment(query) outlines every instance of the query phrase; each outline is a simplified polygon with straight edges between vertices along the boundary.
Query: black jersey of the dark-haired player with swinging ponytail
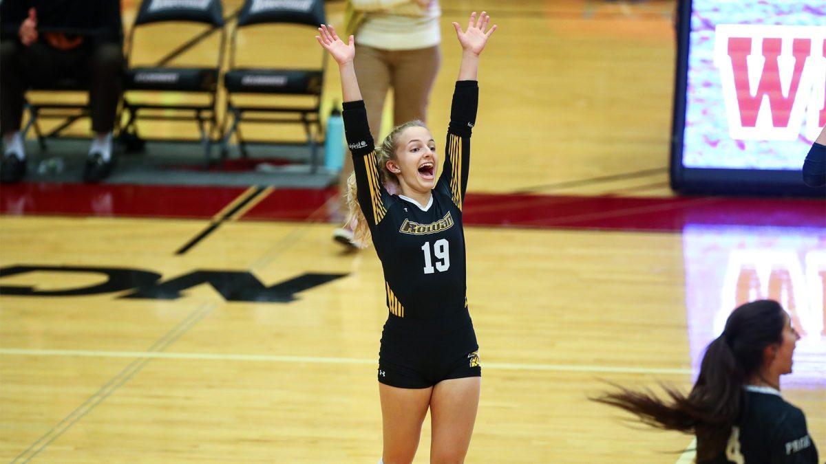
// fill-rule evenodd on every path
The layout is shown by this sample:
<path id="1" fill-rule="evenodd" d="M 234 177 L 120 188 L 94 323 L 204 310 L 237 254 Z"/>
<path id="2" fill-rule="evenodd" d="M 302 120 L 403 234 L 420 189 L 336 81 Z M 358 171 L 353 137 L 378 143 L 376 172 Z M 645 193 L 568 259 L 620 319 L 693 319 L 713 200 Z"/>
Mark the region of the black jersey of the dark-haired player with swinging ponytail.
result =
<path id="1" fill-rule="evenodd" d="M 707 464 L 818 464 L 803 411 L 773 388 L 746 386 L 725 451 Z"/>

